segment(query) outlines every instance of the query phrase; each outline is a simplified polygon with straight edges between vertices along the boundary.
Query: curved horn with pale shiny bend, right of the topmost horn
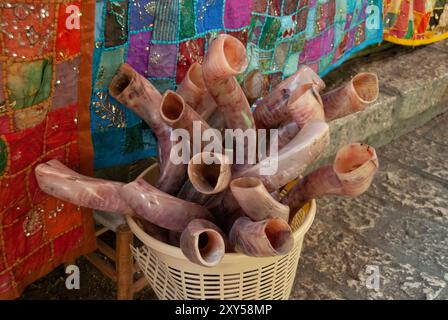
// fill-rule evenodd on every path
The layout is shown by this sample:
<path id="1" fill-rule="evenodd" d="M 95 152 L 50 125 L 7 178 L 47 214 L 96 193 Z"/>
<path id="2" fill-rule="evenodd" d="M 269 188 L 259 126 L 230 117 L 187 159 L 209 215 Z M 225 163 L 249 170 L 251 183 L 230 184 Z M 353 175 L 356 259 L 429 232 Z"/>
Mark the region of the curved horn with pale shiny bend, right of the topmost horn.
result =
<path id="1" fill-rule="evenodd" d="M 307 84 L 316 86 L 318 91 L 325 88 L 322 79 L 311 68 L 303 66 L 295 74 L 279 83 L 260 102 L 257 102 L 254 111 L 257 128 L 277 128 L 288 116 L 287 104 L 292 93 Z M 299 90 L 299 92 L 302 91 Z"/>

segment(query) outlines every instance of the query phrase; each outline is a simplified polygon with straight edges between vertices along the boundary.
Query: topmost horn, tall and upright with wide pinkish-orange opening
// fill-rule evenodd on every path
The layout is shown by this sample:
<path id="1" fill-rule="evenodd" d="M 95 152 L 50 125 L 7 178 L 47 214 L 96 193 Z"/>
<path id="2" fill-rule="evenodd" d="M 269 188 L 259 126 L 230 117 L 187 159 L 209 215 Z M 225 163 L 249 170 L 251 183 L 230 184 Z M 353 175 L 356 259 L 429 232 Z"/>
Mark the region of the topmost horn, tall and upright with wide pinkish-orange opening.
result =
<path id="1" fill-rule="evenodd" d="M 230 35 L 220 34 L 210 44 L 202 66 L 205 85 L 229 129 L 255 128 L 249 103 L 235 79 L 247 64 L 245 46 Z"/>

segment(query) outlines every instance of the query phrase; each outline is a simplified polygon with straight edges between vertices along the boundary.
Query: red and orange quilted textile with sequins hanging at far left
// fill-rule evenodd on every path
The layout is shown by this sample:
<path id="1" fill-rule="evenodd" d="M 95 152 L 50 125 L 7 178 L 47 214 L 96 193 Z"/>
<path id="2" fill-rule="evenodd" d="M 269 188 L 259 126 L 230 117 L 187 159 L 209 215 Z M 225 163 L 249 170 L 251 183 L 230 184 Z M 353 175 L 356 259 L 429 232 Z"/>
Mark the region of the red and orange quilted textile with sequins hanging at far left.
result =
<path id="1" fill-rule="evenodd" d="M 91 55 L 80 44 L 92 41 L 88 29 L 81 33 L 79 13 L 88 25 L 93 4 L 0 3 L 0 299 L 18 297 L 30 282 L 94 248 L 91 213 L 47 196 L 34 176 L 38 163 L 54 158 L 92 171 L 90 95 L 78 89 L 89 91 L 89 77 L 80 75 L 89 74 Z"/>

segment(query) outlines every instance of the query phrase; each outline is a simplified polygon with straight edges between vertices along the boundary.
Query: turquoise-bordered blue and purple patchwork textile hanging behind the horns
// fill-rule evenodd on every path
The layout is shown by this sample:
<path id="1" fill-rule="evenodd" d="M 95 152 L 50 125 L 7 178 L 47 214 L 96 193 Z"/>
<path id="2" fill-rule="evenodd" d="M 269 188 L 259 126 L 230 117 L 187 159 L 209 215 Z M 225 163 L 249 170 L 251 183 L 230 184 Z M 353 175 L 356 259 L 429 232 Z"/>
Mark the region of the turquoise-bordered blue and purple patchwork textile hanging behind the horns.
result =
<path id="1" fill-rule="evenodd" d="M 91 130 L 95 168 L 156 153 L 149 128 L 107 94 L 122 62 L 161 91 L 175 88 L 220 32 L 247 44 L 272 84 L 308 64 L 324 75 L 382 40 L 381 0 L 97 1 Z"/>

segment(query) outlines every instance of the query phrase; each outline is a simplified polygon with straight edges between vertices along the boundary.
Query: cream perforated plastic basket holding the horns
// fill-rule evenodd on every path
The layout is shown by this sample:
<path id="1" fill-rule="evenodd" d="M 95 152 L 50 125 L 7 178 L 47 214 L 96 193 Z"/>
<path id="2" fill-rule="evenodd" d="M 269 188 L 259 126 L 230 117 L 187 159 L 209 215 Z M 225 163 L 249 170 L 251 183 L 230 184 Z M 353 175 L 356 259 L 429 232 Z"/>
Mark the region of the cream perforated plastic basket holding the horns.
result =
<path id="1" fill-rule="evenodd" d="M 152 180 L 148 171 L 144 174 L 145 179 Z M 228 253 L 213 268 L 190 262 L 179 248 L 154 239 L 131 217 L 127 219 L 132 232 L 144 244 L 132 247 L 133 255 L 159 299 L 286 300 L 294 282 L 303 238 L 315 213 L 313 200 L 295 216 L 291 224 L 294 247 L 287 255 L 256 258 Z"/>

